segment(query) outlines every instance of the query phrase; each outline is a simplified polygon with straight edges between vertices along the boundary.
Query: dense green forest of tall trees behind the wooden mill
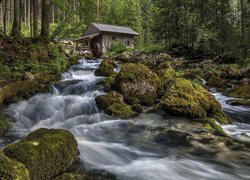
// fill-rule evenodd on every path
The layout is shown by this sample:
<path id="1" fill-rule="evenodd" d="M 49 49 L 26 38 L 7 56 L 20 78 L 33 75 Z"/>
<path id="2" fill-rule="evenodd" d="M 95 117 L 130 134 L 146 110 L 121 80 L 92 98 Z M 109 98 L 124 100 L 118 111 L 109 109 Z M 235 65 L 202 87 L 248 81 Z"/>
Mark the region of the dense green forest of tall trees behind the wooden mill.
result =
<path id="1" fill-rule="evenodd" d="M 0 28 L 9 35 L 80 37 L 91 22 L 129 26 L 138 47 L 157 44 L 209 55 L 249 57 L 248 0 L 1 0 Z M 45 13 L 43 13 L 45 12 Z"/>

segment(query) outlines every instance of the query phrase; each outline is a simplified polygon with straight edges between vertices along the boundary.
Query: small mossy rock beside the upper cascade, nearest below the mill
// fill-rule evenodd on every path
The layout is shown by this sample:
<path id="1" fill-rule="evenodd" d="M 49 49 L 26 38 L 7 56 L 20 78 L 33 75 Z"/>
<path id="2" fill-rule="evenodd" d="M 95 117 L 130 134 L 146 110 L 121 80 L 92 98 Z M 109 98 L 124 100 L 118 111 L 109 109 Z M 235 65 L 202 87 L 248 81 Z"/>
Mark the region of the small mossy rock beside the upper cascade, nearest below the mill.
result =
<path id="1" fill-rule="evenodd" d="M 114 73 L 115 61 L 104 60 L 99 68 L 95 71 L 96 76 L 111 76 Z"/>

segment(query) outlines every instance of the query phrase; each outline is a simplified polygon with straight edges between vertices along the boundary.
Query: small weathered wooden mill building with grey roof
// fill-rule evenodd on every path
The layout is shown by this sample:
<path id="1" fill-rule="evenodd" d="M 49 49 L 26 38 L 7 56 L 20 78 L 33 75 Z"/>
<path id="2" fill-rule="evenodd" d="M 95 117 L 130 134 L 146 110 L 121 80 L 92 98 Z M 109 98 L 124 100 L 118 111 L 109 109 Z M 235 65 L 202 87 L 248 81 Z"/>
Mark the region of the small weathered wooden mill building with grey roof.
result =
<path id="1" fill-rule="evenodd" d="M 139 34 L 129 27 L 91 23 L 84 35 L 75 40 L 77 51 L 90 51 L 95 55 L 106 53 L 115 42 L 134 47 Z"/>

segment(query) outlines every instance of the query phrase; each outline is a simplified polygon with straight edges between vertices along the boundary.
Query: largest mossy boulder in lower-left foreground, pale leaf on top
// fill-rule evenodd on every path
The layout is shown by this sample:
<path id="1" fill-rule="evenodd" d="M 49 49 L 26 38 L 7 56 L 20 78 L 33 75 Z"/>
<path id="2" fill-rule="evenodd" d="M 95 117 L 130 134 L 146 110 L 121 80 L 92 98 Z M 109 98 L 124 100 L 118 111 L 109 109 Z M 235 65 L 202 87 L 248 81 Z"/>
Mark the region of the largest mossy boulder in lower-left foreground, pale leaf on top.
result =
<path id="1" fill-rule="evenodd" d="M 74 136 L 59 129 L 36 130 L 3 152 L 22 162 L 31 179 L 51 179 L 65 172 L 79 155 Z"/>

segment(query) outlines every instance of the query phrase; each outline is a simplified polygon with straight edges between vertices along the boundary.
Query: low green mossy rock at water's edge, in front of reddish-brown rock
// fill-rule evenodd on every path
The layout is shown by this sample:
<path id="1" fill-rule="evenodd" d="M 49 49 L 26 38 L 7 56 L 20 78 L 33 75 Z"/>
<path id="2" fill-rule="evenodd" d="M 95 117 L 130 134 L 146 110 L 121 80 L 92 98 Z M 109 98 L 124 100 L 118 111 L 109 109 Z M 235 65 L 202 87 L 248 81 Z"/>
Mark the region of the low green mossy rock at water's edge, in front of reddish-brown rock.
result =
<path id="1" fill-rule="evenodd" d="M 109 115 L 122 119 L 127 119 L 137 115 L 137 113 L 132 110 L 131 106 L 124 103 L 114 103 L 106 109 L 106 112 Z"/>

